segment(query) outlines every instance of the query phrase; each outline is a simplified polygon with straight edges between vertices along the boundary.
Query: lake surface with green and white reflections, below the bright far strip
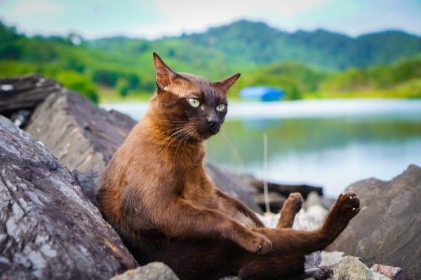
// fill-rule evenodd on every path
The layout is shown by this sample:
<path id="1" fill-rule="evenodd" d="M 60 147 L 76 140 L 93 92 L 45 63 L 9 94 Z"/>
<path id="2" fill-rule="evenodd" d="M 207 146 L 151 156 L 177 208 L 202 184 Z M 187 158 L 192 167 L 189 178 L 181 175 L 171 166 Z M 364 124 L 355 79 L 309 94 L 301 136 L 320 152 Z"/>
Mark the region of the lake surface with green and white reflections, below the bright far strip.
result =
<path id="1" fill-rule="evenodd" d="M 208 141 L 208 159 L 262 175 L 262 134 L 269 139 L 269 178 L 325 186 L 337 195 L 349 183 L 389 180 L 421 165 L 421 116 L 231 120 Z"/>

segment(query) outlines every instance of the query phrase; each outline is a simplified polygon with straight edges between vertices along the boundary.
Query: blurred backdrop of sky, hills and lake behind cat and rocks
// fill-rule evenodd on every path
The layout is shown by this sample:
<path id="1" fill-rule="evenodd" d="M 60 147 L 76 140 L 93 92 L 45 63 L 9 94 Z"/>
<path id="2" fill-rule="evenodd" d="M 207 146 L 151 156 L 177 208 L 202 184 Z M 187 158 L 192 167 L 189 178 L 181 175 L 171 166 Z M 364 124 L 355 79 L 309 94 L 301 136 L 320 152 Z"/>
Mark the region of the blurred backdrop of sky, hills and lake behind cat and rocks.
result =
<path id="1" fill-rule="evenodd" d="M 328 195 L 421 165 L 421 1 L 0 1 L 0 77 L 55 78 L 140 119 L 152 52 L 241 72 L 207 144 L 217 165 Z"/>

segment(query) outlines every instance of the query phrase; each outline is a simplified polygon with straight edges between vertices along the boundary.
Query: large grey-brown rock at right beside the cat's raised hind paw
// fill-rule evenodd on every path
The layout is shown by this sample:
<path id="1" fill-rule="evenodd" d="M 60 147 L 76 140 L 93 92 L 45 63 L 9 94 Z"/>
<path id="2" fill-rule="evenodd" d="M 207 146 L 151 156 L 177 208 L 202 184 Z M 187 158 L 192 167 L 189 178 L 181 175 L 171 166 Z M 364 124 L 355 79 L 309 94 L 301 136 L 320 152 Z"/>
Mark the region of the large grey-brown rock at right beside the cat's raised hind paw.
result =
<path id="1" fill-rule="evenodd" d="M 391 181 L 367 179 L 347 188 L 358 194 L 361 211 L 329 247 L 360 255 L 367 265 L 401 267 L 421 279 L 421 168 L 410 165 Z"/>

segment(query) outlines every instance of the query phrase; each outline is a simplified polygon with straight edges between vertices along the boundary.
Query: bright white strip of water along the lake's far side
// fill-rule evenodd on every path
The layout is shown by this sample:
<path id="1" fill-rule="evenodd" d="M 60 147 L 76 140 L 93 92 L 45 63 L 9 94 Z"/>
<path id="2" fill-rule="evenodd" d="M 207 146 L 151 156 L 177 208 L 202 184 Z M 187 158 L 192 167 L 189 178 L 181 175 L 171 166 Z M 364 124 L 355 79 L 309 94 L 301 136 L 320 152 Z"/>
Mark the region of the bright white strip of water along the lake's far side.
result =
<path id="1" fill-rule="evenodd" d="M 100 104 L 139 120 L 148 102 L 109 102 Z M 335 118 L 385 116 L 405 113 L 421 119 L 421 99 L 303 99 L 281 102 L 229 102 L 227 119 Z M 399 116 L 401 117 L 401 116 Z"/>

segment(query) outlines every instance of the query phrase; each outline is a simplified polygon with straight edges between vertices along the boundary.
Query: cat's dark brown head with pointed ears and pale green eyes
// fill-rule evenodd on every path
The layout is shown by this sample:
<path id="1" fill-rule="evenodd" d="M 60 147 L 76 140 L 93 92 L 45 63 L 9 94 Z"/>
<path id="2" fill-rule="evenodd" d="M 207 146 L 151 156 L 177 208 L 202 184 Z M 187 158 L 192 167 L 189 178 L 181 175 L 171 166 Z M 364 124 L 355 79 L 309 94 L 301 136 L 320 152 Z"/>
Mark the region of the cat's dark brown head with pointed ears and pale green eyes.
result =
<path id="1" fill-rule="evenodd" d="M 154 53 L 157 92 L 152 99 L 163 125 L 173 137 L 204 140 L 217 134 L 227 115 L 227 92 L 240 74 L 211 82 L 176 73 Z"/>

